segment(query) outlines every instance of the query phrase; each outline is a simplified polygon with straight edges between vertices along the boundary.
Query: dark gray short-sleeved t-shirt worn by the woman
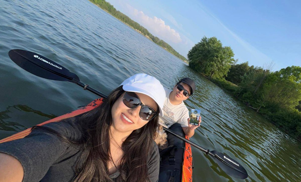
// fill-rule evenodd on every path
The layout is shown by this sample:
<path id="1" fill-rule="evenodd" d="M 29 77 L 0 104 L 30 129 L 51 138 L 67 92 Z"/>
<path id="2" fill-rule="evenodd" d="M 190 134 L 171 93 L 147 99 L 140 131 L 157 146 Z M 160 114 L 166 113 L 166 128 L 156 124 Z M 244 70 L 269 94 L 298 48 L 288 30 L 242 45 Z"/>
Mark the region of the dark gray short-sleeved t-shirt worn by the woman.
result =
<path id="1" fill-rule="evenodd" d="M 81 126 L 75 120 L 68 118 L 44 126 L 70 140 L 79 140 L 82 137 Z M 155 142 L 153 148 L 147 163 L 151 182 L 158 181 L 160 160 Z M 1 143 L 0 152 L 12 155 L 20 161 L 24 170 L 24 182 L 72 181 L 76 169 L 81 167 L 87 153 L 80 146 L 67 145 L 54 133 L 39 128 L 23 139 Z M 81 155 L 83 157 L 80 157 Z M 118 176 L 119 171 L 110 175 L 112 180 Z"/>

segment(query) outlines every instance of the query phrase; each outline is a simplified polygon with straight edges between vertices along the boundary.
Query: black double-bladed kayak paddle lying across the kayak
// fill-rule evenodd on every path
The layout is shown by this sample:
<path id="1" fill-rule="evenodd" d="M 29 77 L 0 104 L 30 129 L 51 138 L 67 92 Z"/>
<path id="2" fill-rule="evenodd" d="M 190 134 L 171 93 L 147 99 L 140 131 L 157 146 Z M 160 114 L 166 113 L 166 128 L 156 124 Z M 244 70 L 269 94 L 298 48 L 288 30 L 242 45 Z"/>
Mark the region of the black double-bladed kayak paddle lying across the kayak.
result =
<path id="1" fill-rule="evenodd" d="M 76 83 L 77 85 L 83 87 L 86 90 L 89 90 L 92 93 L 95 93 L 98 96 L 101 96 L 102 98 L 107 98 L 106 95 L 98 92 L 95 89 L 92 89 L 90 86 L 88 86 L 88 84 L 80 82 L 79 77 L 76 74 L 70 72 L 68 69 L 64 68 L 60 64 L 57 64 L 54 61 L 45 58 L 42 55 L 22 49 L 12 49 L 8 52 L 8 55 L 11 58 L 11 60 L 14 61 L 14 63 L 16 63 L 18 66 L 38 77 L 46 78 L 49 80 L 68 81 Z M 207 155 L 212 156 L 219 165 L 219 167 L 222 168 L 222 170 L 225 171 L 228 175 L 240 179 L 246 179 L 248 177 L 248 173 L 244 169 L 244 167 L 242 167 L 236 160 L 232 159 L 228 155 L 222 154 L 215 150 L 209 151 L 209 149 L 204 149 L 196 143 L 178 135 L 172 130 L 169 130 L 165 127 L 163 128 L 165 131 L 189 143 L 197 149 L 200 149 Z"/>

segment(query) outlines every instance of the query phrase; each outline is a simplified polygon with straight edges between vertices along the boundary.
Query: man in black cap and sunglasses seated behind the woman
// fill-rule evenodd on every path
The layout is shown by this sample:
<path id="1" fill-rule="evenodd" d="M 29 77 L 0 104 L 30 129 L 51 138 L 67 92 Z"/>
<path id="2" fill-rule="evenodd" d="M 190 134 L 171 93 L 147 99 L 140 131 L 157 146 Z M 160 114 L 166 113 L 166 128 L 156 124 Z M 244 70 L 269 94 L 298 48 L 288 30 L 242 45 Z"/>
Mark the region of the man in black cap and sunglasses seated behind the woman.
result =
<path id="1" fill-rule="evenodd" d="M 159 124 L 164 127 L 170 127 L 174 123 L 181 124 L 186 136 L 194 135 L 194 130 L 200 126 L 189 124 L 189 112 L 184 104 L 184 100 L 188 99 L 195 90 L 195 83 L 190 78 L 183 78 L 173 88 L 173 90 L 165 89 L 166 98 L 163 106 L 163 117 L 159 117 Z"/>

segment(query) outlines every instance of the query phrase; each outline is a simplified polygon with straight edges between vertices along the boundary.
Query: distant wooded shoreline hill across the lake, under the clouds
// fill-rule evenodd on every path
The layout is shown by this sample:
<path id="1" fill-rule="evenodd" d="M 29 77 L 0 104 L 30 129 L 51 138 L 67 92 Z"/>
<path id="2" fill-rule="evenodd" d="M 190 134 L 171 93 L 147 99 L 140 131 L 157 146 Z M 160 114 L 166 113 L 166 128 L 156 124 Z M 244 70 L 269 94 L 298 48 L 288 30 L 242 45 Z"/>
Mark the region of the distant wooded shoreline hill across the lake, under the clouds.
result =
<path id="1" fill-rule="evenodd" d="M 182 56 L 178 52 L 176 52 L 175 49 L 173 49 L 169 44 L 167 44 L 163 40 L 159 39 L 158 37 L 153 36 L 151 33 L 149 33 L 149 31 L 146 28 L 142 27 L 140 24 L 138 24 L 137 22 L 135 22 L 134 20 L 132 20 L 125 14 L 121 13 L 120 11 L 117 11 L 116 8 L 114 8 L 114 6 L 111 5 L 109 2 L 106 2 L 104 0 L 89 0 L 89 1 L 91 1 L 92 3 L 94 3 L 95 5 L 100 7 L 101 9 L 107 11 L 108 13 L 110 13 L 111 15 L 113 15 L 114 17 L 116 17 L 117 19 L 122 21 L 123 23 L 132 27 L 137 32 L 141 33 L 148 39 L 152 40 L 153 42 L 155 42 L 156 44 L 161 46 L 163 49 L 165 49 L 166 51 L 172 53 L 173 55 L 175 55 L 182 61 L 185 61 L 186 63 L 188 63 L 188 60 L 184 56 Z"/>

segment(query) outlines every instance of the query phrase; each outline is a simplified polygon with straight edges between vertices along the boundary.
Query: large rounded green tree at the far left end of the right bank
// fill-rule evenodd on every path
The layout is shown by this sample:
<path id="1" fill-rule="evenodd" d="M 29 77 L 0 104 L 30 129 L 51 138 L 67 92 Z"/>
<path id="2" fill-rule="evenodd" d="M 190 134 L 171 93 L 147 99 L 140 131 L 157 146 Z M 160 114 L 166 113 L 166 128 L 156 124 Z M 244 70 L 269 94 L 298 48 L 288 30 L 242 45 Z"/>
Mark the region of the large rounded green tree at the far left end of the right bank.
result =
<path id="1" fill-rule="evenodd" d="M 222 46 L 216 37 L 204 36 L 187 54 L 189 66 L 207 77 L 222 78 L 235 62 L 230 46 Z"/>

